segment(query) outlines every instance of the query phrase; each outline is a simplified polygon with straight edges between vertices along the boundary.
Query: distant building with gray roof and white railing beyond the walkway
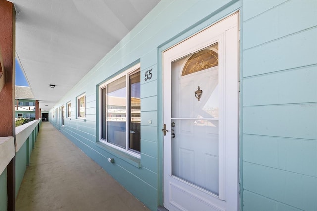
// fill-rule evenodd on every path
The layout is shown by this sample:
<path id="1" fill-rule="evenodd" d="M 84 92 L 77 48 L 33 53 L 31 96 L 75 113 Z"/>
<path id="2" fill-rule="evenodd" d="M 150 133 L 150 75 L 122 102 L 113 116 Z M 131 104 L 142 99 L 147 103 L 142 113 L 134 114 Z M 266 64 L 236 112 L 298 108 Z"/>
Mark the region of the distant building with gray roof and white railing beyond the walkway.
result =
<path id="1" fill-rule="evenodd" d="M 35 118 L 35 99 L 30 87 L 15 86 L 15 118 Z"/>

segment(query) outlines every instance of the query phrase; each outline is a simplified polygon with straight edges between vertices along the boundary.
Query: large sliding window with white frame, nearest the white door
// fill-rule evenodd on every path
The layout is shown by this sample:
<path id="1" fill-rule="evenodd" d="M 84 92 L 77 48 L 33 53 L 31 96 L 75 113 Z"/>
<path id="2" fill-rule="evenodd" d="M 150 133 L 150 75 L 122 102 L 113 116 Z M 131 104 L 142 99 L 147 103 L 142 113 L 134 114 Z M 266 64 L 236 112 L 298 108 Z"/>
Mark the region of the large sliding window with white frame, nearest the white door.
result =
<path id="1" fill-rule="evenodd" d="M 100 86 L 101 142 L 140 154 L 140 64 Z"/>

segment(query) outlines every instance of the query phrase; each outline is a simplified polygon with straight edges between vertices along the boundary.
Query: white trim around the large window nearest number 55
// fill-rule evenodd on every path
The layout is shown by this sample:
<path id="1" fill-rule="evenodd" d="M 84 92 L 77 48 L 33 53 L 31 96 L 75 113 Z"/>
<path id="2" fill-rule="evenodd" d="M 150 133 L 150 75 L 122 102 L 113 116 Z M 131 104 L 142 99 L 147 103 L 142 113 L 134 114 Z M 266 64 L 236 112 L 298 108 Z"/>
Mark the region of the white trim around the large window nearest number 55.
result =
<path id="1" fill-rule="evenodd" d="M 129 154 L 129 155 L 131 155 L 131 156 L 133 156 L 133 157 L 136 157 L 136 158 L 141 158 L 141 152 L 140 153 L 136 153 L 136 152 L 133 152 L 133 151 L 131 151 L 131 150 L 129 150 L 129 143 L 128 143 L 128 140 L 129 140 L 129 133 L 125 133 L 125 149 L 124 148 L 122 148 L 122 147 L 119 147 L 119 146 L 116 146 L 116 145 L 114 145 L 114 144 L 112 144 L 112 143 L 109 143 L 109 142 L 107 142 L 106 140 L 104 140 L 104 139 L 102 139 L 101 138 L 101 134 L 102 134 L 102 89 L 103 88 L 106 88 L 107 87 L 107 85 L 109 84 L 109 83 L 111 83 L 111 82 L 113 82 L 113 81 L 115 81 L 115 80 L 117 80 L 117 79 L 119 79 L 119 78 L 121 78 L 121 77 L 123 77 L 123 76 L 126 76 L 126 81 L 125 81 L 125 83 L 126 83 L 126 88 L 127 88 L 127 93 L 129 93 L 129 81 L 127 80 L 128 79 L 128 77 L 130 76 L 130 75 L 132 75 L 133 73 L 136 73 L 137 72 L 137 69 L 139 69 L 141 67 L 141 64 L 140 63 L 138 63 L 138 64 L 136 64 L 136 65 L 134 65 L 134 66 L 132 66 L 132 67 L 130 67 L 129 69 L 127 69 L 126 71 L 124 71 L 123 73 L 120 73 L 119 75 L 117 75 L 117 76 L 115 76 L 115 77 L 113 77 L 113 78 L 111 78 L 111 79 L 109 79 L 109 80 L 107 80 L 106 82 L 104 82 L 104 83 L 102 83 L 101 85 L 99 85 L 99 142 L 101 142 L 101 143 L 104 143 L 104 144 L 106 144 L 106 145 L 108 145 L 108 146 L 110 146 L 110 147 L 113 147 L 113 148 L 115 148 L 115 149 L 117 149 L 117 150 L 120 150 L 120 151 L 122 151 L 122 152 L 125 152 L 125 153 L 127 153 L 127 154 Z M 140 70 L 140 72 L 141 72 L 141 70 Z M 128 109 L 128 105 L 129 105 L 129 98 L 128 98 L 128 96 L 127 96 L 127 98 L 126 98 L 126 109 Z M 128 112 L 126 112 L 126 119 L 128 120 L 128 119 L 130 119 L 130 113 L 128 113 Z M 129 127 L 130 127 L 130 125 L 129 125 L 129 122 L 130 121 L 125 121 L 125 126 L 126 126 L 126 131 L 129 129 Z M 106 134 L 108 134 L 108 131 L 107 131 L 107 133 Z M 141 144 L 141 143 L 140 143 Z"/>

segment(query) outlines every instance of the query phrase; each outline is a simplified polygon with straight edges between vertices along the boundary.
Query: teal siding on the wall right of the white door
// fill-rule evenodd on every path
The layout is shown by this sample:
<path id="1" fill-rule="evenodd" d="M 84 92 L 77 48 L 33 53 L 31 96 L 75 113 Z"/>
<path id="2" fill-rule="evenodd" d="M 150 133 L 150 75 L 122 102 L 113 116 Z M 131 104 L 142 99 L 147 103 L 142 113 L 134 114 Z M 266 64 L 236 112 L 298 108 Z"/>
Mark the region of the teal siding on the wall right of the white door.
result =
<path id="1" fill-rule="evenodd" d="M 246 211 L 317 210 L 317 1 L 244 1 Z"/>

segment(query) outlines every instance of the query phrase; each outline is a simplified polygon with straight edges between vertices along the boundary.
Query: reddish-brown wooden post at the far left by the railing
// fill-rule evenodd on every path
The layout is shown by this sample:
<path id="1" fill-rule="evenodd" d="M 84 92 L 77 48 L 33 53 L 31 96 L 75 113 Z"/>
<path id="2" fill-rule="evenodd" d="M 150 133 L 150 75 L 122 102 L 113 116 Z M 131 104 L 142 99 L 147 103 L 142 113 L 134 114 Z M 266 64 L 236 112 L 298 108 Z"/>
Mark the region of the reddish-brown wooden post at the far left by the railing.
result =
<path id="1" fill-rule="evenodd" d="M 13 3 L 0 0 L 0 49 L 5 84 L 0 92 L 0 136 L 15 140 L 15 9 Z M 7 166 L 9 211 L 15 211 L 15 157 Z"/>

